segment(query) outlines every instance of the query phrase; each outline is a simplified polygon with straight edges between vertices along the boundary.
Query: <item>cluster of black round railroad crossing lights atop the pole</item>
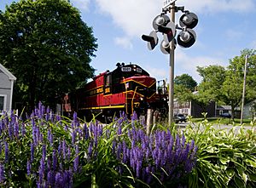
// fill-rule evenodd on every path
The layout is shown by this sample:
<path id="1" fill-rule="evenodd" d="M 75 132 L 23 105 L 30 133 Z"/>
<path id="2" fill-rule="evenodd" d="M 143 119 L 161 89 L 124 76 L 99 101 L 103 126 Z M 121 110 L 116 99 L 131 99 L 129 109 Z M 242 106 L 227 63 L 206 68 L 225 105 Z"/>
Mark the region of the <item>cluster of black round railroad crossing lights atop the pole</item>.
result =
<path id="1" fill-rule="evenodd" d="M 164 5 L 168 8 L 176 0 L 165 0 Z M 181 9 L 182 8 L 182 9 Z M 166 11 L 160 15 L 157 15 L 152 23 L 154 31 L 151 31 L 149 36 L 143 35 L 144 41 L 148 42 L 148 49 L 153 50 L 157 45 L 159 39 L 157 32 L 163 34 L 164 40 L 160 43 L 160 50 L 164 54 L 170 54 L 170 43 L 174 39 L 175 47 L 178 44 L 182 48 L 191 47 L 196 40 L 195 31 L 192 29 L 198 24 L 198 17 L 194 13 L 190 13 L 188 10 L 184 10 L 183 7 L 175 7 L 176 12 L 182 11 L 184 14 L 179 19 L 179 26 L 176 26 L 174 22 L 170 21 L 170 18 L 166 15 Z M 181 30 L 176 37 L 177 29 Z"/>

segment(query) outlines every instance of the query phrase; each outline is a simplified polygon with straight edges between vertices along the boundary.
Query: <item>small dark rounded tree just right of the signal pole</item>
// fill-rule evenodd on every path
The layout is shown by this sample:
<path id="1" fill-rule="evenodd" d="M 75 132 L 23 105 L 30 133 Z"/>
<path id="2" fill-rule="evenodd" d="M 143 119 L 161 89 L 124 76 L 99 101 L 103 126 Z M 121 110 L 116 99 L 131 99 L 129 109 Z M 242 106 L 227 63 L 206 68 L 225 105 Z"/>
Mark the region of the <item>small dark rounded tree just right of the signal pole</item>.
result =
<path id="1" fill-rule="evenodd" d="M 197 83 L 194 78 L 189 76 L 189 74 L 182 74 L 174 78 L 174 83 L 177 85 L 183 85 L 185 88 L 188 88 L 190 91 L 195 91 Z"/>

